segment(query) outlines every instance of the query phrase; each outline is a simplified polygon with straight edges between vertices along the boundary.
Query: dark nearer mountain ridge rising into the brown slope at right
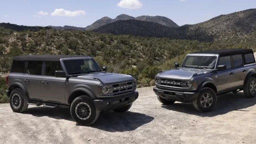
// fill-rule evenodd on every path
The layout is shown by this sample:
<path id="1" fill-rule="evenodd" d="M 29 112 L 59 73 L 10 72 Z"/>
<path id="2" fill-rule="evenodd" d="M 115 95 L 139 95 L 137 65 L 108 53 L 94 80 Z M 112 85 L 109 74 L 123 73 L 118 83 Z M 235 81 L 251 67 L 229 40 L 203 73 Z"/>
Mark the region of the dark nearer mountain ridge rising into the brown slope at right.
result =
<path id="1" fill-rule="evenodd" d="M 222 14 L 201 23 L 178 27 L 135 19 L 118 20 L 95 28 L 93 31 L 199 41 L 234 41 L 253 36 L 251 32 L 256 31 L 256 9 Z"/>

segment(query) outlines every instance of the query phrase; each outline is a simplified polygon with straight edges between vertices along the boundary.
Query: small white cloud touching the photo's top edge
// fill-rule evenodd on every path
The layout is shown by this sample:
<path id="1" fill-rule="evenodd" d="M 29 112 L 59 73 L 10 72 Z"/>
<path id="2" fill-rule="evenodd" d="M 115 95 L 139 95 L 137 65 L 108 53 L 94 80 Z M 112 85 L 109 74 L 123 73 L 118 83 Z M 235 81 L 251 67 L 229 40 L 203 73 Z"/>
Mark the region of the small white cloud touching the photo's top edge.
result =
<path id="1" fill-rule="evenodd" d="M 139 2 L 139 0 L 121 0 L 119 3 L 117 3 L 117 6 L 121 8 L 140 8 L 142 6 L 142 3 Z"/>

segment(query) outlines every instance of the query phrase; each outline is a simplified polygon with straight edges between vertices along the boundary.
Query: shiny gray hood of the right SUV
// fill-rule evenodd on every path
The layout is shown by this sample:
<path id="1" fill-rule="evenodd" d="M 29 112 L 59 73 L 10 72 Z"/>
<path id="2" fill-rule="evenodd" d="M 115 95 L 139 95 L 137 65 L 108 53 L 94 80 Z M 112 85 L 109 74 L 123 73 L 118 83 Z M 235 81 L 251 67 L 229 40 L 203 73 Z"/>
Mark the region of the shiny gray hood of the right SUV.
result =
<path id="1" fill-rule="evenodd" d="M 156 76 L 175 79 L 190 79 L 194 74 L 208 73 L 210 71 L 205 69 L 178 67 L 175 69 L 159 72 Z"/>

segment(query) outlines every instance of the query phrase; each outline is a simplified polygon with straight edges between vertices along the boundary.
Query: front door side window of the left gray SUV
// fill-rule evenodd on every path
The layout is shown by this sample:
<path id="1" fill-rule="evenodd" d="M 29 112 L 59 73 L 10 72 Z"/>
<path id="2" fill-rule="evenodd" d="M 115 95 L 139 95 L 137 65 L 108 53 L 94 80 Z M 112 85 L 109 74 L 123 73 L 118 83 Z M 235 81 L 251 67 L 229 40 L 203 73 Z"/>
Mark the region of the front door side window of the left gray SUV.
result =
<path id="1" fill-rule="evenodd" d="M 47 76 L 55 76 L 56 70 L 62 70 L 59 61 L 45 61 L 45 74 Z"/>

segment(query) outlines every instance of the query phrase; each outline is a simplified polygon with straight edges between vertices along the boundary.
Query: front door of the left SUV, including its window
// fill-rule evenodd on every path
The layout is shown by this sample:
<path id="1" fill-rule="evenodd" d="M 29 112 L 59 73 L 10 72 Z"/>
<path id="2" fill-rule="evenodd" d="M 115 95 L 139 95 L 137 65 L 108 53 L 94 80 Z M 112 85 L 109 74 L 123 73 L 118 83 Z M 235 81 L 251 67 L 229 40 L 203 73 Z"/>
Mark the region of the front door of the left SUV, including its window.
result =
<path id="1" fill-rule="evenodd" d="M 41 77 L 43 101 L 65 103 L 65 77 L 55 77 L 56 70 L 62 70 L 59 61 L 45 61 Z"/>

